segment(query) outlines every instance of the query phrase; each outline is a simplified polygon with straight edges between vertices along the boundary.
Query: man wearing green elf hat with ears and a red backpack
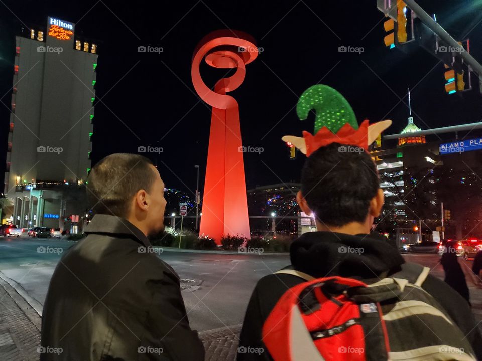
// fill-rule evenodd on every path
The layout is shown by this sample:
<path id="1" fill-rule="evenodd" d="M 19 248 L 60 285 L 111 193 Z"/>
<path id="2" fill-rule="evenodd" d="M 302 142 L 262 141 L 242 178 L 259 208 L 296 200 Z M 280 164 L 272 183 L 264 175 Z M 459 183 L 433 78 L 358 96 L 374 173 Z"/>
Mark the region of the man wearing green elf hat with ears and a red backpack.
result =
<path id="1" fill-rule="evenodd" d="M 368 148 L 391 120 L 358 126 L 346 99 L 325 85 L 301 96 L 299 118 L 311 109 L 314 135 L 282 139 L 307 156 L 297 201 L 317 232 L 296 239 L 291 265 L 256 285 L 237 360 L 482 359 L 467 302 L 370 233 L 384 194 Z"/>

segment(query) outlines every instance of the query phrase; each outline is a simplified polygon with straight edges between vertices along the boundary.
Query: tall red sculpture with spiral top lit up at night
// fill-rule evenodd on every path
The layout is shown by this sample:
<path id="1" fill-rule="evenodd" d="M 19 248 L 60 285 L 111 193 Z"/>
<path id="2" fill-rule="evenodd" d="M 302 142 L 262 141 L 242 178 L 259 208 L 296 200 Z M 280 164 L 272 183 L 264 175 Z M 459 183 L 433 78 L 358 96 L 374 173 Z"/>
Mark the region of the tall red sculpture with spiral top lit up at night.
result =
<path id="1" fill-rule="evenodd" d="M 219 30 L 199 42 L 192 59 L 194 89 L 212 106 L 199 233 L 213 237 L 218 244 L 226 234 L 250 238 L 239 108 L 236 100 L 226 93 L 241 85 L 245 79 L 245 65 L 257 56 L 258 48 L 251 36 Z M 203 59 L 214 68 L 236 68 L 236 72 L 219 80 L 212 91 L 199 73 Z"/>

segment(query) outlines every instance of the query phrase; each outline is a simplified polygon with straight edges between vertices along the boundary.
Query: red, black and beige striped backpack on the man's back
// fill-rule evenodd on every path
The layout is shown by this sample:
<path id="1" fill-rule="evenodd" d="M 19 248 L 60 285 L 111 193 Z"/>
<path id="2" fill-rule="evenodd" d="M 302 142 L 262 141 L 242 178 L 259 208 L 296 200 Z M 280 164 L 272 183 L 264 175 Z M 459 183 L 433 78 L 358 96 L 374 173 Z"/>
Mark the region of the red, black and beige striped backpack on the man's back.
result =
<path id="1" fill-rule="evenodd" d="M 263 324 L 274 361 L 475 360 L 465 335 L 421 287 L 430 269 L 402 267 L 373 284 L 275 272 L 305 282 L 288 289 Z"/>

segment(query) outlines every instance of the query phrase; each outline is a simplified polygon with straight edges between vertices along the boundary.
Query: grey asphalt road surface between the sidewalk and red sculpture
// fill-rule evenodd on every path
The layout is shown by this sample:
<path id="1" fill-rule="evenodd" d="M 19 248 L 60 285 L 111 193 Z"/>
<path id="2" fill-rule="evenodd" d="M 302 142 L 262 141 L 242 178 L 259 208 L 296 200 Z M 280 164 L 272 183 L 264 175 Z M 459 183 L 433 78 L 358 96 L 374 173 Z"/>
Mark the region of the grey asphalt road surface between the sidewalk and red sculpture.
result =
<path id="1" fill-rule="evenodd" d="M 0 271 L 43 305 L 52 273 L 74 242 L 59 239 L 0 238 Z M 243 322 L 256 282 L 289 264 L 288 255 L 163 252 L 159 255 L 181 279 L 192 328 L 203 331 Z M 430 267 L 443 278 L 436 254 L 409 254 L 407 262 Z"/>

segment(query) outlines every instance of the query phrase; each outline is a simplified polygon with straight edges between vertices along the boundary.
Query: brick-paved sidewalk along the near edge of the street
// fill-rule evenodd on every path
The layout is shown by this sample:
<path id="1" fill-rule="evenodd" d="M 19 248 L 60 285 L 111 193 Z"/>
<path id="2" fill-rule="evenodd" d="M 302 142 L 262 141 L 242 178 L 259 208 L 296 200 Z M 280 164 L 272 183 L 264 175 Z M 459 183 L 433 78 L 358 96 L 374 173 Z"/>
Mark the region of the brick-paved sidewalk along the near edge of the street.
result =
<path id="1" fill-rule="evenodd" d="M 461 263 L 464 262 L 461 260 Z M 468 274 L 467 265 L 462 269 Z M 482 330 L 482 289 L 467 278 L 472 311 Z M 41 317 L 25 299 L 0 278 L 0 360 L 38 361 Z M 235 361 L 241 325 L 199 332 L 206 350 L 205 361 Z"/>

